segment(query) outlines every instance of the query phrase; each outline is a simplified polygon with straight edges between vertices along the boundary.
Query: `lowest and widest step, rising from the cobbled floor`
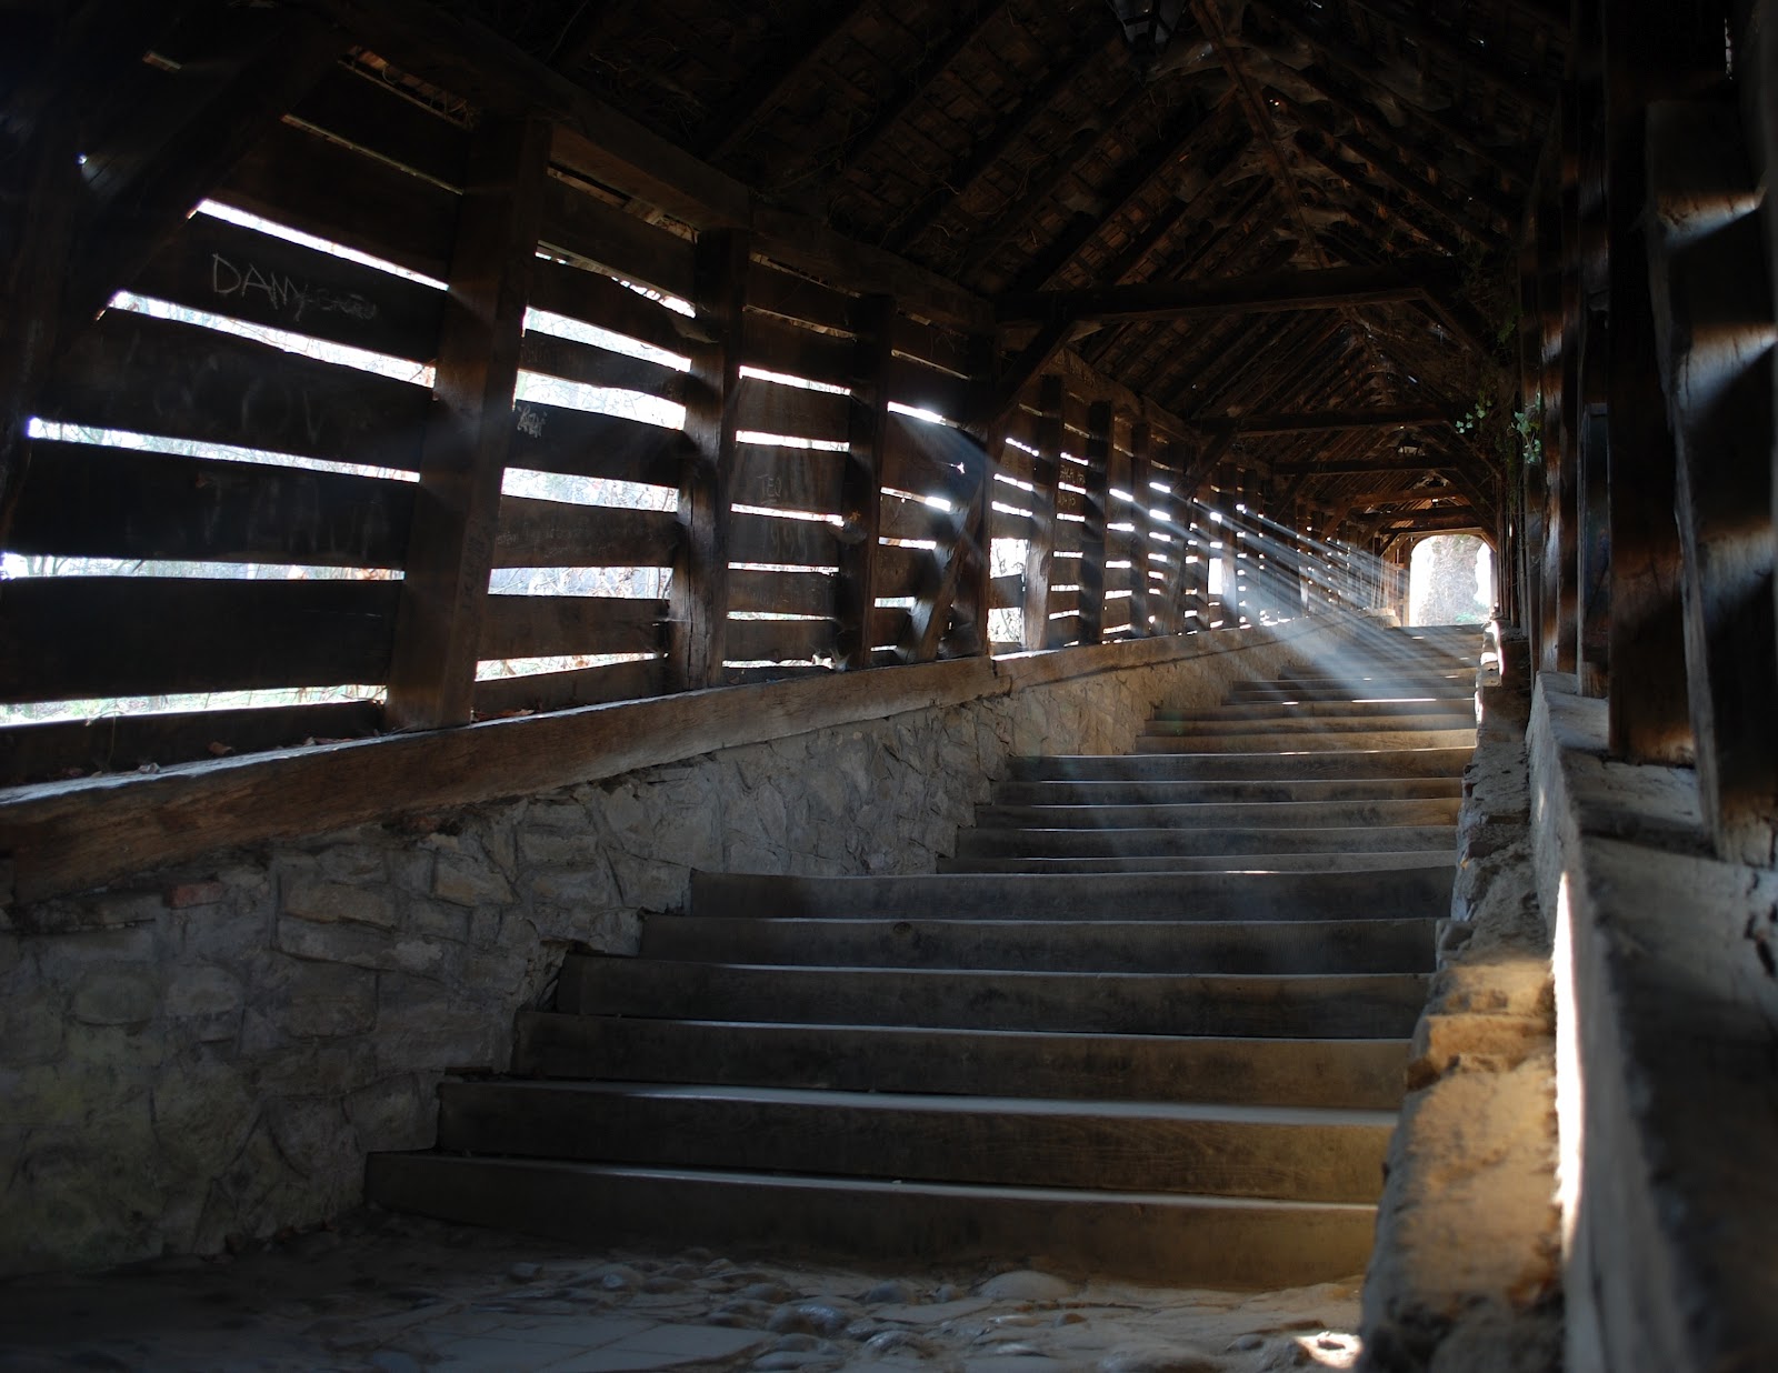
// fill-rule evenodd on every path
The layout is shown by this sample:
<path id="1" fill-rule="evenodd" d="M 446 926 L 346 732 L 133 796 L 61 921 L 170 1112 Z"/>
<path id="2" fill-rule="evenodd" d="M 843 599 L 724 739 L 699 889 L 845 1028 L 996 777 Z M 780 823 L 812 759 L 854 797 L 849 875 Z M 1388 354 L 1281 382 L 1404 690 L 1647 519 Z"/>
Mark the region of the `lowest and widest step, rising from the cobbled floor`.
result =
<path id="1" fill-rule="evenodd" d="M 1168 1286 L 1278 1288 L 1348 1277 L 1376 1208 L 1145 1192 L 992 1188 L 589 1163 L 372 1154 L 368 1200 L 585 1243 L 770 1245 L 957 1265 L 1021 1256 Z"/>

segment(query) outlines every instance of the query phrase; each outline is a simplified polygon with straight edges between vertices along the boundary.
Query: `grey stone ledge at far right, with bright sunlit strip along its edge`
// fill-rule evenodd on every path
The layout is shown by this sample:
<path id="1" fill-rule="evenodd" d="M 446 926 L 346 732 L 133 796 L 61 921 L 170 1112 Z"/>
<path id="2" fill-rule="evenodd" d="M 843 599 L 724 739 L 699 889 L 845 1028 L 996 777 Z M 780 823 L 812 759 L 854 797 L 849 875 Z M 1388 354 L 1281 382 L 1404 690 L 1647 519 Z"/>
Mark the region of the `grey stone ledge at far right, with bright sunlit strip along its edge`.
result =
<path id="1" fill-rule="evenodd" d="M 1566 1366 L 1778 1366 L 1778 873 L 1687 852 L 1691 775 L 1606 759 L 1604 703 L 1538 683 L 1556 919 Z M 1689 802 L 1689 804 L 1687 804 Z M 1675 809 L 1678 818 L 1675 820 Z"/>

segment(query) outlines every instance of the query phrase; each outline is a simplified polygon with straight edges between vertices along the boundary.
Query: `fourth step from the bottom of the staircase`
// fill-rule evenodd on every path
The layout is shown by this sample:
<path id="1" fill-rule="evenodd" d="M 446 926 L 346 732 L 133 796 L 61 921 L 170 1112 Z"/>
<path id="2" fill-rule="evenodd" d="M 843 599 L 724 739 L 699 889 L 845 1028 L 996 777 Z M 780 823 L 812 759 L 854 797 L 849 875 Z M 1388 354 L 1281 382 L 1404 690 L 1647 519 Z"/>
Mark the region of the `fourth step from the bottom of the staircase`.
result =
<path id="1" fill-rule="evenodd" d="M 1417 973 L 1198 976 L 784 968 L 571 955 L 567 1014 L 916 1024 L 1138 1035 L 1401 1039 L 1426 1003 Z"/>

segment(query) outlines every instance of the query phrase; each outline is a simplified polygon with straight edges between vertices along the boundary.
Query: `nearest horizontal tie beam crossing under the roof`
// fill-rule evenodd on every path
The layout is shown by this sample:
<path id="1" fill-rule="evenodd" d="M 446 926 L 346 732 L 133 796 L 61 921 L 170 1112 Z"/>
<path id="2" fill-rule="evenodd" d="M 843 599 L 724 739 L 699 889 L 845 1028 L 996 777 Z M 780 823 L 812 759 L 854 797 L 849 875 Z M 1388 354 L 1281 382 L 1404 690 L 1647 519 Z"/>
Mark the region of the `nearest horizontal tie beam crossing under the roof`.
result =
<path id="1" fill-rule="evenodd" d="M 1449 263 L 1408 261 L 1387 267 L 1266 272 L 1230 281 L 1145 281 L 1134 286 L 1021 292 L 1001 295 L 994 302 L 994 313 L 1001 325 L 1047 324 L 1058 318 L 1163 320 L 1257 315 L 1417 301 L 1454 286 L 1456 277 Z"/>

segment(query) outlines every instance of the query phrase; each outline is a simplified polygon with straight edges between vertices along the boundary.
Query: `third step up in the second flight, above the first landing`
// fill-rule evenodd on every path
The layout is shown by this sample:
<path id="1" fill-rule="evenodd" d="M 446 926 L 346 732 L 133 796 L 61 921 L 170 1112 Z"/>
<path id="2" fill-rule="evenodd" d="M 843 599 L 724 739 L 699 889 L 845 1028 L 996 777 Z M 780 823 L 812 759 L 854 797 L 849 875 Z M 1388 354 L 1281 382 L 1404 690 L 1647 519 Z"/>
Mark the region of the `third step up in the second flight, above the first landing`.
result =
<path id="1" fill-rule="evenodd" d="M 1462 800 L 1252 800 L 1175 806 L 978 806 L 976 829 L 1351 829 L 1454 825 Z M 1412 848 L 1414 845 L 1403 845 Z"/>

